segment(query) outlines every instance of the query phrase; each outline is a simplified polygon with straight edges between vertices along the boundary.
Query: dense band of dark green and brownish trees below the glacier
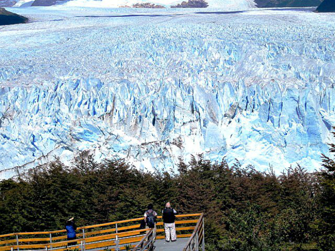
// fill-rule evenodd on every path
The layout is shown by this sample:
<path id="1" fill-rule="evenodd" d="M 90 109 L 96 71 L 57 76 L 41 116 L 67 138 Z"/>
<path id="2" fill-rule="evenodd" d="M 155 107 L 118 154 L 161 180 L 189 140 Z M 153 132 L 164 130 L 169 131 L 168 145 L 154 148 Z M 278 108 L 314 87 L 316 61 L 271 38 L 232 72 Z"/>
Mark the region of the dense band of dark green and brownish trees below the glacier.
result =
<path id="1" fill-rule="evenodd" d="M 330 146 L 335 152 L 335 146 Z M 0 233 L 62 229 L 140 217 L 171 201 L 180 213 L 205 212 L 206 250 L 335 250 L 335 162 L 277 176 L 198 156 L 178 173 L 145 173 L 120 160 L 72 167 L 56 161 L 18 181 L 0 182 Z"/>

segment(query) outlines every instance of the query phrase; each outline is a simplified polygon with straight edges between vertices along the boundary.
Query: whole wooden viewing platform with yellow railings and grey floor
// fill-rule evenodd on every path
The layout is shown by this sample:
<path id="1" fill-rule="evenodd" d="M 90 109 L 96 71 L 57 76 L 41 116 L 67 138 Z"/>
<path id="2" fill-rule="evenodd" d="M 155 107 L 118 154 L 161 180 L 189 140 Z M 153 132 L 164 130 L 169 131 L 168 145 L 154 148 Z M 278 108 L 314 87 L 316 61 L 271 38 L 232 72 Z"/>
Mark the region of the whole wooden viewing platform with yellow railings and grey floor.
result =
<path id="1" fill-rule="evenodd" d="M 156 239 L 152 229 L 140 229 L 136 218 L 77 228 L 77 239 L 66 240 L 66 230 L 0 235 L 0 251 L 205 251 L 204 214 L 176 216 L 176 242 L 165 242 L 163 222 L 158 216 Z"/>

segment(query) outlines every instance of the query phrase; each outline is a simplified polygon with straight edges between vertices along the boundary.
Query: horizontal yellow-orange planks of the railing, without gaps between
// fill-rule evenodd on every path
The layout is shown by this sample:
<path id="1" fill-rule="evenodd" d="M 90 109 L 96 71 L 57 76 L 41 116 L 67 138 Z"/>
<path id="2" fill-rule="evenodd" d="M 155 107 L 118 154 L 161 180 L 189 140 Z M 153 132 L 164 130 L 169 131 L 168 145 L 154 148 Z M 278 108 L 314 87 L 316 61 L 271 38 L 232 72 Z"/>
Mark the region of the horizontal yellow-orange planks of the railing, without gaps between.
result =
<path id="1" fill-rule="evenodd" d="M 187 217 L 198 217 L 202 216 L 200 213 L 192 213 L 192 214 L 181 214 L 176 216 L 177 218 L 187 218 Z M 158 219 L 161 219 L 161 217 L 158 217 Z M 192 219 L 192 218 L 191 218 Z M 98 225 L 91 225 L 91 226 L 85 226 L 85 227 L 80 227 L 78 229 L 82 229 L 83 233 L 77 234 L 78 237 L 85 237 L 85 238 L 78 238 L 76 240 L 63 240 L 66 239 L 66 235 L 61 235 L 61 236 L 54 236 L 52 237 L 50 234 L 52 233 L 62 233 L 65 232 L 66 230 L 57 230 L 57 231 L 45 231 L 45 232 L 26 232 L 26 233 L 13 233 L 13 234 L 6 234 L 6 235 L 1 235 L 0 237 L 10 237 L 10 236 L 15 236 L 17 238 L 15 239 L 5 239 L 0 241 L 0 251 L 10 251 L 11 248 L 13 249 L 41 249 L 41 251 L 46 250 L 46 249 L 64 249 L 69 243 L 76 243 L 73 247 L 69 247 L 69 249 L 74 249 L 75 247 L 80 248 L 81 245 L 84 245 L 86 249 L 91 249 L 91 248 L 97 248 L 97 247 L 105 247 L 105 246 L 113 246 L 113 245 L 118 245 L 117 243 L 134 243 L 141 241 L 143 238 L 143 232 L 149 231 L 149 229 L 139 229 L 140 224 L 136 225 L 129 225 L 129 226 L 119 226 L 116 224 L 122 224 L 122 223 L 129 223 L 129 222 L 136 222 L 136 221 L 141 221 L 143 220 L 143 217 L 141 218 L 136 218 L 136 219 L 130 219 L 130 220 L 124 220 L 124 221 L 117 221 L 117 222 L 111 222 L 111 223 L 105 223 L 105 224 L 98 224 Z M 198 223 L 198 220 L 179 220 L 176 221 L 176 225 L 182 225 L 180 227 L 177 227 L 177 231 L 191 231 L 194 230 L 197 226 L 194 227 L 194 223 Z M 110 226 L 110 225 L 115 225 L 114 228 L 109 228 L 109 229 L 102 229 L 98 231 L 87 231 L 84 233 L 85 229 L 92 229 L 92 228 L 98 228 L 102 226 Z M 162 222 L 157 223 L 157 227 L 162 226 Z M 157 229 L 157 233 L 162 233 L 161 231 L 163 229 Z M 50 237 L 29 237 L 29 238 L 19 238 L 19 235 L 47 235 L 49 234 Z M 16 236 L 17 235 L 17 236 Z M 22 236 L 22 237 L 23 237 Z M 179 234 L 178 237 L 190 237 L 191 234 Z M 192 237 L 192 236 L 191 236 Z M 158 239 L 163 238 L 163 236 L 157 236 Z M 119 239 L 119 241 L 117 241 Z M 57 241 L 54 241 L 57 240 Z M 31 242 L 36 242 L 31 243 Z M 152 241 L 153 242 L 153 241 Z M 18 244 L 17 244 L 18 243 Z M 81 244 L 82 243 L 82 244 Z M 143 243 L 143 242 L 142 242 Z M 150 244 L 149 242 L 146 242 L 144 244 Z M 122 245 L 121 245 L 122 247 Z M 119 246 L 119 250 L 121 248 Z"/>

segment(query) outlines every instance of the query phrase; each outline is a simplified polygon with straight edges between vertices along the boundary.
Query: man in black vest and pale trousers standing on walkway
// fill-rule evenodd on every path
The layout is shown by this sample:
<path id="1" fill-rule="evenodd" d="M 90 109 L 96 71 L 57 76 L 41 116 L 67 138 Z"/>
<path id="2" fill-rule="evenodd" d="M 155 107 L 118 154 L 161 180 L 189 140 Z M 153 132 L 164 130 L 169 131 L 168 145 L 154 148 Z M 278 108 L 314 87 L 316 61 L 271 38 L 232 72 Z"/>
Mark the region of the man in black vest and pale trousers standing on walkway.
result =
<path id="1" fill-rule="evenodd" d="M 165 208 L 162 211 L 163 213 L 163 223 L 164 223 L 164 230 L 165 230 L 165 241 L 170 242 L 177 240 L 176 235 L 176 214 L 177 211 L 173 208 L 171 208 L 170 202 L 167 202 L 165 204 Z"/>

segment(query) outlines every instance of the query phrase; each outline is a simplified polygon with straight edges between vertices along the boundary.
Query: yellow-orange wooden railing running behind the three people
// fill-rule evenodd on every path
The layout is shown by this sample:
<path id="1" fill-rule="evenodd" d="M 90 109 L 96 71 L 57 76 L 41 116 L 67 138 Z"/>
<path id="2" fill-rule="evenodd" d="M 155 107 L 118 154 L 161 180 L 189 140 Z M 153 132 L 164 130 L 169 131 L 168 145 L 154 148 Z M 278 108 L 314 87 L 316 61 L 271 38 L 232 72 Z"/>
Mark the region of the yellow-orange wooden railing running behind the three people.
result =
<path id="1" fill-rule="evenodd" d="M 176 216 L 177 237 L 191 237 L 198 223 L 200 213 L 181 214 Z M 163 239 L 164 229 L 161 217 L 158 217 L 157 237 Z M 180 220 L 179 220 L 180 219 Z M 0 235 L 0 251 L 16 250 L 64 250 L 94 248 L 123 250 L 133 248 L 140 242 L 150 229 L 139 229 L 143 218 L 110 222 L 92 226 L 79 227 L 76 240 L 66 240 L 66 230 L 12 233 Z M 135 224 L 136 223 L 136 224 Z"/>

